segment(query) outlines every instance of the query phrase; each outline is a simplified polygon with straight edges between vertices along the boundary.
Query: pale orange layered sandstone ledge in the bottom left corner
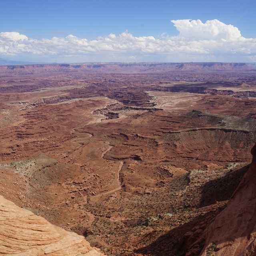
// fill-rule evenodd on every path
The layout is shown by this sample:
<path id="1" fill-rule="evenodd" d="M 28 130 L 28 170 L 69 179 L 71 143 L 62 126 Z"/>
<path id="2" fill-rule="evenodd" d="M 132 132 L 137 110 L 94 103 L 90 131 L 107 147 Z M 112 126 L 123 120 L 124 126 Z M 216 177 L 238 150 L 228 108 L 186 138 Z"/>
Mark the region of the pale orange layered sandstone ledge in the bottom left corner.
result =
<path id="1" fill-rule="evenodd" d="M 0 255 L 103 256 L 76 233 L 54 226 L 0 196 Z"/>

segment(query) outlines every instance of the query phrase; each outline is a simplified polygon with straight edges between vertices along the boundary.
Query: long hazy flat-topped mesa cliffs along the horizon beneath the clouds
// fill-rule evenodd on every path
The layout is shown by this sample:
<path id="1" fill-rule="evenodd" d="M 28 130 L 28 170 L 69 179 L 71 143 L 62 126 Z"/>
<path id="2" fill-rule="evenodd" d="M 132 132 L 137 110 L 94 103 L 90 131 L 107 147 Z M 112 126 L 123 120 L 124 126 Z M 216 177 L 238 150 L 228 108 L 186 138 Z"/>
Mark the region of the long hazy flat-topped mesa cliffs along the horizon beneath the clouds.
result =
<path id="1" fill-rule="evenodd" d="M 32 71 L 36 73 L 41 72 L 63 72 L 67 70 L 83 71 L 83 72 L 170 72 L 170 71 L 196 71 L 196 72 L 227 72 L 227 71 L 254 71 L 256 70 L 256 64 L 254 63 L 224 63 L 224 62 L 184 62 L 184 63 L 33 63 L 33 62 L 21 62 L 10 61 L 0 59 L 0 72 L 6 72 L 8 70 L 19 70 L 24 68 L 26 71 Z M 40 70 L 40 68 L 43 68 Z"/>

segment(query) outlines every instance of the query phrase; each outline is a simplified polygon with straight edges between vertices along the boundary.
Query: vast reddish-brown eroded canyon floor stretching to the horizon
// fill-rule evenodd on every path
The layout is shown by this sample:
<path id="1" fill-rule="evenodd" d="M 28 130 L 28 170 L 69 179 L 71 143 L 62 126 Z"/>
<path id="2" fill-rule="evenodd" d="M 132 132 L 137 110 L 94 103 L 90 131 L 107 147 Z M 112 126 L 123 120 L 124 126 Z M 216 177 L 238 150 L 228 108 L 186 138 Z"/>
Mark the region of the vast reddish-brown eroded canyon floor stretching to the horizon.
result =
<path id="1" fill-rule="evenodd" d="M 1 66 L 0 195 L 109 256 L 185 255 L 248 170 L 255 70 Z"/>

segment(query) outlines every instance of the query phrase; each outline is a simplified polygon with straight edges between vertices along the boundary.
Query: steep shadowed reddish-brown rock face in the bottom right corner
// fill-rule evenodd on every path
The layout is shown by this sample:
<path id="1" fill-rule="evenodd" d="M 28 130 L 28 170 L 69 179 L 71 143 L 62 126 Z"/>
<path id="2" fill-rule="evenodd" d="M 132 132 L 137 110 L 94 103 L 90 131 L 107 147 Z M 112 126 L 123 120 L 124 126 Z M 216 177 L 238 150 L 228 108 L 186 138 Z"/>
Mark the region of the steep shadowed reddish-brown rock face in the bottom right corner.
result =
<path id="1" fill-rule="evenodd" d="M 251 153 L 252 164 L 227 207 L 206 228 L 187 256 L 256 255 L 256 145 Z M 196 248 L 204 241 L 199 254 Z"/>

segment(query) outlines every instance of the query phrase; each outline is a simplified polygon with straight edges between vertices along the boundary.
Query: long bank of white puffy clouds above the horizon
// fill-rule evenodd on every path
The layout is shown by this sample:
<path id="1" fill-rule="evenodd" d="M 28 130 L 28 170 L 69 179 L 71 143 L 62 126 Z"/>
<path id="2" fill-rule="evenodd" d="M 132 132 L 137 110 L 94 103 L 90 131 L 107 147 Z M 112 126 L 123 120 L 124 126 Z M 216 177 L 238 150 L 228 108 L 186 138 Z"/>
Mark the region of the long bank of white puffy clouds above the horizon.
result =
<path id="1" fill-rule="evenodd" d="M 28 38 L 0 32 L 0 56 L 29 59 L 86 61 L 226 61 L 256 62 L 256 38 L 219 20 L 171 20 L 178 36 L 133 36 L 128 31 L 96 40 L 66 37 Z"/>

